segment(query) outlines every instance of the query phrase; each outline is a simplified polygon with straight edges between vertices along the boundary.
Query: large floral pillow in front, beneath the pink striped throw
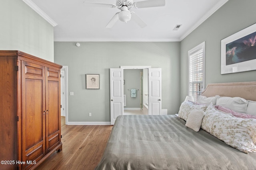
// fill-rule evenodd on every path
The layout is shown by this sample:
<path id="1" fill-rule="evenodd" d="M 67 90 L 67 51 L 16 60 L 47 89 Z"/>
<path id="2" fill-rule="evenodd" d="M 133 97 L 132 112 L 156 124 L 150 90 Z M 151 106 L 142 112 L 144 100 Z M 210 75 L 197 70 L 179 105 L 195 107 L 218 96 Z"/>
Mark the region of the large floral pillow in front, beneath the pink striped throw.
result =
<path id="1" fill-rule="evenodd" d="M 233 148 L 256 152 L 256 119 L 232 117 L 217 111 L 210 104 L 205 111 L 201 128 Z"/>

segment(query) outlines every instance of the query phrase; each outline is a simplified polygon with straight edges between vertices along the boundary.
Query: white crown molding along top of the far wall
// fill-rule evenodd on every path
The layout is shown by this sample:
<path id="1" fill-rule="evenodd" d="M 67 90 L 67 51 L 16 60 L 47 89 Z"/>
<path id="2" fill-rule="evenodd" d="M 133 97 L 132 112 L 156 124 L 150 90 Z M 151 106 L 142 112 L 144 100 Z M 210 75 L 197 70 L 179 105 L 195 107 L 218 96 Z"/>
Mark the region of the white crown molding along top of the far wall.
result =
<path id="1" fill-rule="evenodd" d="M 180 39 L 97 39 L 97 38 L 54 38 L 56 42 L 177 42 Z"/>

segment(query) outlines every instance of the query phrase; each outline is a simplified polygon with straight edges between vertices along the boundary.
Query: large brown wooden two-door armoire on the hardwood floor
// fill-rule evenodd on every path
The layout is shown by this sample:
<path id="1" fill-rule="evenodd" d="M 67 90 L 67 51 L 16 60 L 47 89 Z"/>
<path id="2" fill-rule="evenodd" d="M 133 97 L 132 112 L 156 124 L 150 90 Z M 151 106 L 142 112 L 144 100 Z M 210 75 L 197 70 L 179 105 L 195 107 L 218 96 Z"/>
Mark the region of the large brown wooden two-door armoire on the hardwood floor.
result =
<path id="1" fill-rule="evenodd" d="M 1 170 L 32 170 L 62 150 L 61 68 L 21 51 L 0 51 Z"/>

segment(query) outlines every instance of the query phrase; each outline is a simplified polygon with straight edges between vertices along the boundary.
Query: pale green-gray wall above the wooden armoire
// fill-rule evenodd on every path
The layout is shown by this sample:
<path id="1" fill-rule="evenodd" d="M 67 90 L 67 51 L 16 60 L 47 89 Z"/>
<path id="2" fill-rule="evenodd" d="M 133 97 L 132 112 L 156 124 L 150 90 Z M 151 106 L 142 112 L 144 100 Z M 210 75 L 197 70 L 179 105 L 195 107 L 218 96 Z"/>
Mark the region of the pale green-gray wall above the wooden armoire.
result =
<path id="1" fill-rule="evenodd" d="M 0 23 L 0 50 L 54 61 L 53 26 L 22 0 L 1 0 Z"/>

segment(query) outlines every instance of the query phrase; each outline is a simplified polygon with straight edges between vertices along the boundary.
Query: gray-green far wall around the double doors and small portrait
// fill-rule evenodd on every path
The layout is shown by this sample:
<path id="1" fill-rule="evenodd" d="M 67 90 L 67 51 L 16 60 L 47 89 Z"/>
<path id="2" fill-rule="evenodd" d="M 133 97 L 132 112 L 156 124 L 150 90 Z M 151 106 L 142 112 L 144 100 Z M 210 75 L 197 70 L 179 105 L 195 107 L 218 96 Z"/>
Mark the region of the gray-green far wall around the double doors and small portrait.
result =
<path id="1" fill-rule="evenodd" d="M 180 42 L 54 42 L 54 61 L 68 66 L 69 121 L 110 121 L 109 68 L 119 66 L 162 68 L 162 108 L 179 109 Z M 85 74 L 100 74 L 100 90 L 85 89 Z"/>

